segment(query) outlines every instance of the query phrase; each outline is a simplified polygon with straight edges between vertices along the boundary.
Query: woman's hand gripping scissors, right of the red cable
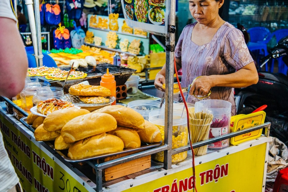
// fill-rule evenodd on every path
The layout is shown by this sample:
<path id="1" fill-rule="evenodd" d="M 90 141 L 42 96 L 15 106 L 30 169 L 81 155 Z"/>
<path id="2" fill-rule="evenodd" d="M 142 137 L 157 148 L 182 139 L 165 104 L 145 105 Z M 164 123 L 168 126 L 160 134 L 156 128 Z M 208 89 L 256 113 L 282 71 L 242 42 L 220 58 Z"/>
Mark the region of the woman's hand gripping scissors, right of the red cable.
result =
<path id="1" fill-rule="evenodd" d="M 201 95 L 206 96 L 209 93 L 209 90 L 213 87 L 212 79 L 209 76 L 202 76 L 198 79 L 195 79 L 193 84 L 191 85 L 189 94 L 193 95 Z"/>

